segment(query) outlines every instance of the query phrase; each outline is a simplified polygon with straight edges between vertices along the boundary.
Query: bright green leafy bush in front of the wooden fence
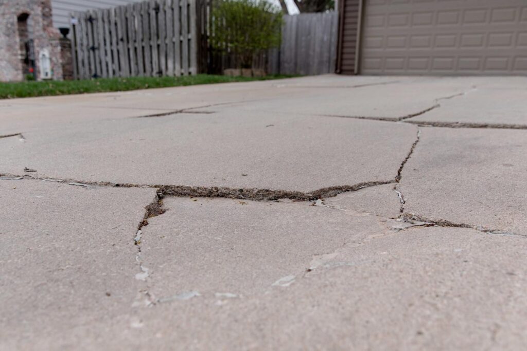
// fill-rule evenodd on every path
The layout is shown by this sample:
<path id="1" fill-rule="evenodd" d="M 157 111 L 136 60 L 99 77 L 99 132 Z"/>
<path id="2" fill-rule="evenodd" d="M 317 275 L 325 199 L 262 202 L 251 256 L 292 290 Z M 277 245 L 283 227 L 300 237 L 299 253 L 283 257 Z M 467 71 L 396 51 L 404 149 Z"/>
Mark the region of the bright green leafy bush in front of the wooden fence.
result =
<path id="1" fill-rule="evenodd" d="M 235 55 L 238 67 L 251 67 L 256 55 L 280 45 L 282 14 L 267 1 L 221 0 L 212 16 L 212 48 Z"/>

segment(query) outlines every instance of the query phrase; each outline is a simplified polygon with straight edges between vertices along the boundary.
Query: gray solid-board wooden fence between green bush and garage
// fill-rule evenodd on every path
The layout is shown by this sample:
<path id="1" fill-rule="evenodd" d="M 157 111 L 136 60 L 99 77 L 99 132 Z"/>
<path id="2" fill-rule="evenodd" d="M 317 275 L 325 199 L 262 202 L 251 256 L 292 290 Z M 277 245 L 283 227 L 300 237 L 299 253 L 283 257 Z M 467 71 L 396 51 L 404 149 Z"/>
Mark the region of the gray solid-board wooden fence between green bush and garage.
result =
<path id="1" fill-rule="evenodd" d="M 315 75 L 335 72 L 336 12 L 285 15 L 280 52 L 270 52 L 269 71 Z"/>

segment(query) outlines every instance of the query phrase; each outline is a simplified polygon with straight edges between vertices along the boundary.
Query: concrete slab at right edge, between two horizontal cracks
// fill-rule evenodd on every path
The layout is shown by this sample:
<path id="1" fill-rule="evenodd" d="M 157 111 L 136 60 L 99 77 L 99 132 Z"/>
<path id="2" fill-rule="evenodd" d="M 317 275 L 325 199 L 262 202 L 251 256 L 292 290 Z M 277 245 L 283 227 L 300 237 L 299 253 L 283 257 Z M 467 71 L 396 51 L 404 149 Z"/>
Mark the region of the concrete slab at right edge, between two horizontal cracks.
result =
<path id="1" fill-rule="evenodd" d="M 527 235 L 527 131 L 421 130 L 399 184 L 405 213 Z"/>

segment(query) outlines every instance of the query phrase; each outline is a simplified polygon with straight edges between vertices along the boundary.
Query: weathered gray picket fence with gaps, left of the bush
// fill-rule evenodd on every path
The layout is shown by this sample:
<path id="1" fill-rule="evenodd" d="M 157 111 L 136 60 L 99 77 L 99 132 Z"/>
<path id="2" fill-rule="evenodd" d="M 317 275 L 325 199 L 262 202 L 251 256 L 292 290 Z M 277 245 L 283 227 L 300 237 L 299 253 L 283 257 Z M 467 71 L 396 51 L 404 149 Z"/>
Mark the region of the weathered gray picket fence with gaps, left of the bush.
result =
<path id="1" fill-rule="evenodd" d="M 150 0 L 72 16 L 76 79 L 197 73 L 196 0 Z"/>

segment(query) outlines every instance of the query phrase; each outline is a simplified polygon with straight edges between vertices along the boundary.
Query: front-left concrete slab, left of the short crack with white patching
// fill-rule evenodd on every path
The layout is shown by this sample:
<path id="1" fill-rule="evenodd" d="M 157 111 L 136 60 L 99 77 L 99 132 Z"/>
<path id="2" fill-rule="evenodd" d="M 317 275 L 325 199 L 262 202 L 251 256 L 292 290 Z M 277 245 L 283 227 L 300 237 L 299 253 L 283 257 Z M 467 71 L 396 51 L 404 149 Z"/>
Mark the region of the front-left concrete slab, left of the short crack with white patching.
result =
<path id="1" fill-rule="evenodd" d="M 133 237 L 154 198 L 155 189 L 0 180 L 0 349 L 60 345 L 76 327 L 98 334 L 99 322 L 129 313 L 141 288 Z"/>

